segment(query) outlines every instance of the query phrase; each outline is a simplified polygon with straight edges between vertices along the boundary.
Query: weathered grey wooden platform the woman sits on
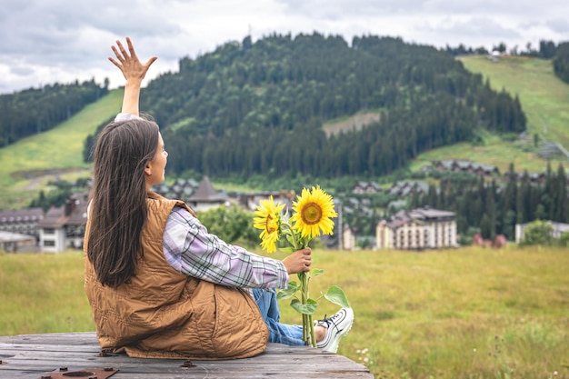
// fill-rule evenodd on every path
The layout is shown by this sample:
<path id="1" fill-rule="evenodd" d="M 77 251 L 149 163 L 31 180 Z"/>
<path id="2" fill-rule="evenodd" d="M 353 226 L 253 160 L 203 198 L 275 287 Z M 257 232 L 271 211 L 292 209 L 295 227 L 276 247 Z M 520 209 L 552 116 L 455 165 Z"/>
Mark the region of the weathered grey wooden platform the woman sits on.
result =
<path id="1" fill-rule="evenodd" d="M 100 355 L 92 332 L 0 336 L 0 378 L 41 379 L 50 375 L 53 379 L 92 378 L 94 375 L 87 374 L 86 369 L 109 367 L 118 370 L 109 379 L 374 378 L 363 364 L 342 355 L 284 344 L 269 344 L 263 354 L 229 361 L 187 362 Z M 66 372 L 61 371 L 64 368 Z"/>

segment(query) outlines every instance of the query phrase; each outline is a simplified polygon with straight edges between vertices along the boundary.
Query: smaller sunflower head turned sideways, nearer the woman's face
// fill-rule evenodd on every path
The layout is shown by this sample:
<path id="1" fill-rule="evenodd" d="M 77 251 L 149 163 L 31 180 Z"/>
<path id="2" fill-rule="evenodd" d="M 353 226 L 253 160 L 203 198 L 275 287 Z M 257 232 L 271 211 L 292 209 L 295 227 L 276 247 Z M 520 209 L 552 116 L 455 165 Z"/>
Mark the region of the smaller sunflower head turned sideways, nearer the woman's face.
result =
<path id="1" fill-rule="evenodd" d="M 274 253 L 276 251 L 275 244 L 281 236 L 281 211 L 284 204 L 275 204 L 273 196 L 270 196 L 268 200 L 261 200 L 259 204 L 255 211 L 255 215 L 258 217 L 253 219 L 253 226 L 263 231 L 259 234 L 261 247 L 267 253 Z"/>

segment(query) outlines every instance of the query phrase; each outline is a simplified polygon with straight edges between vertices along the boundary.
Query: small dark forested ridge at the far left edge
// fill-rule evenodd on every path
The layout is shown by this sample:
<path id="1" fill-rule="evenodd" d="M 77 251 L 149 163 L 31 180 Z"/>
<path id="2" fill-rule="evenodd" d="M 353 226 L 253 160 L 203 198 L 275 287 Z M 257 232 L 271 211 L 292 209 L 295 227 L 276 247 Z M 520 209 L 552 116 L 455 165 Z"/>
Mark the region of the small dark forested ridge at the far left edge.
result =
<path id="1" fill-rule="evenodd" d="M 91 80 L 0 95 L 0 146 L 53 128 L 107 92 L 108 84 L 99 86 Z"/>

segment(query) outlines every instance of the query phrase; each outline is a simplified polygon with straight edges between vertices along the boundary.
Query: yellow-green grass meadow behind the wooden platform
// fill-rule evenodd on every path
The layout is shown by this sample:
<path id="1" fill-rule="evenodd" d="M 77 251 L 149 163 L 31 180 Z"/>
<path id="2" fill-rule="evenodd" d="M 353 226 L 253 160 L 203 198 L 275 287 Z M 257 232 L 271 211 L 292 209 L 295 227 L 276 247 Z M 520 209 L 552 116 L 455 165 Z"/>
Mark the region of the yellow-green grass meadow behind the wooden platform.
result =
<path id="1" fill-rule="evenodd" d="M 339 354 L 380 378 L 569 378 L 569 254 L 466 247 L 314 251 L 355 323 Z M 281 256 L 275 255 L 280 258 Z M 94 330 L 79 253 L 0 254 L 0 334 Z M 281 304 L 283 321 L 299 314 Z M 336 307 L 321 302 L 317 317 Z"/>

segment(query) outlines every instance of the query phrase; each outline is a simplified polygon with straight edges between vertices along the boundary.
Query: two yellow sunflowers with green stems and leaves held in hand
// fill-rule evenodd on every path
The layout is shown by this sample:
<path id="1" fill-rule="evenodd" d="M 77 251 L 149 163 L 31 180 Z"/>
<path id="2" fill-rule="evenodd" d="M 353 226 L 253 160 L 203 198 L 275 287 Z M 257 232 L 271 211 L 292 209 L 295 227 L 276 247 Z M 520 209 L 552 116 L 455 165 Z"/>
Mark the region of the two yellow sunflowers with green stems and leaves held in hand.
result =
<path id="1" fill-rule="evenodd" d="M 292 253 L 308 247 L 310 241 L 321 234 L 333 234 L 334 221 L 332 218 L 338 214 L 334 211 L 334 201 L 330 194 L 326 194 L 320 186 L 311 190 L 303 188 L 302 194 L 297 196 L 293 203 L 294 214 L 289 218 L 288 212 L 282 214 L 284 204 L 275 204 L 273 196 L 268 200 L 261 200 L 255 211 L 254 226 L 261 229 L 261 247 L 267 253 L 277 250 L 277 242 L 285 237 L 288 246 L 279 250 Z M 323 274 L 320 269 L 297 274 L 299 283 L 290 281 L 288 288 L 277 294 L 277 299 L 291 300 L 293 309 L 303 315 L 303 339 L 312 346 L 316 346 L 314 337 L 313 314 L 318 307 L 318 300 L 324 297 L 331 303 L 349 307 L 344 291 L 337 285 L 332 285 L 325 294 L 314 300 L 310 297 L 308 284 L 314 276 Z M 300 294 L 300 296 L 298 295 Z"/>

